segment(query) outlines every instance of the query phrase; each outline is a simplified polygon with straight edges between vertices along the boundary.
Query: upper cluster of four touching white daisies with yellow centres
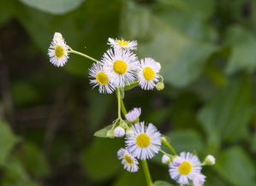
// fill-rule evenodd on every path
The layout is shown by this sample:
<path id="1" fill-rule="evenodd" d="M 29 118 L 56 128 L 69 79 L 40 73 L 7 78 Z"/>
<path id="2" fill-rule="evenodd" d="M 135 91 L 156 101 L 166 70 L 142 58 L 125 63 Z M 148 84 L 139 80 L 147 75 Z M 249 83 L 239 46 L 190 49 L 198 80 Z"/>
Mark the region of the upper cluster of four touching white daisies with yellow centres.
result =
<path id="1" fill-rule="evenodd" d="M 138 60 L 133 50 L 136 41 L 109 38 L 110 49 L 101 61 L 89 69 L 91 84 L 98 86 L 100 93 L 112 93 L 116 88 L 138 82 L 143 90 L 152 90 L 159 82 L 160 63 L 152 58 Z"/>

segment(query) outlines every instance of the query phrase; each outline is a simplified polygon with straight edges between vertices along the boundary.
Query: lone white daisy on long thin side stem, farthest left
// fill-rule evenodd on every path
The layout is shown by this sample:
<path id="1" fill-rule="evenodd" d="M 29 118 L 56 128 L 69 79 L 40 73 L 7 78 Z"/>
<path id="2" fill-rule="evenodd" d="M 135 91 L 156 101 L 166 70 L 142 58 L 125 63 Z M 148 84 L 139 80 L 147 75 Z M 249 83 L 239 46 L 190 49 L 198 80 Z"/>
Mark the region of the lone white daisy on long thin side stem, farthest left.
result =
<path id="1" fill-rule="evenodd" d="M 68 45 L 61 33 L 55 32 L 48 49 L 48 55 L 51 63 L 57 67 L 63 67 L 68 61 Z"/>

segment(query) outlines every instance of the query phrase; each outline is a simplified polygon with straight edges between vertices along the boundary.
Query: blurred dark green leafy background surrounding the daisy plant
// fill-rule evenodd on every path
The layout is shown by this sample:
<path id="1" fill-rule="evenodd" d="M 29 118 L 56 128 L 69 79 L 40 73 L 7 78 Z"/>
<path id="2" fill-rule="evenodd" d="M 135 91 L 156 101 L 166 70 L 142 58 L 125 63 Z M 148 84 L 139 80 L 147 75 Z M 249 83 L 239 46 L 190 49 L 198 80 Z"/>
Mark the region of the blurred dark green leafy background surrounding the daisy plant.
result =
<path id="1" fill-rule="evenodd" d="M 92 90 L 91 61 L 51 65 L 54 32 L 98 59 L 109 37 L 138 40 L 165 89 L 127 92 L 128 109 L 141 107 L 178 152 L 214 154 L 205 185 L 256 185 L 256 2 L 246 0 L 0 0 L 0 185 L 146 185 L 116 159 L 122 139 L 93 137 L 116 119 L 116 96 Z M 153 179 L 174 183 L 160 158 Z"/>

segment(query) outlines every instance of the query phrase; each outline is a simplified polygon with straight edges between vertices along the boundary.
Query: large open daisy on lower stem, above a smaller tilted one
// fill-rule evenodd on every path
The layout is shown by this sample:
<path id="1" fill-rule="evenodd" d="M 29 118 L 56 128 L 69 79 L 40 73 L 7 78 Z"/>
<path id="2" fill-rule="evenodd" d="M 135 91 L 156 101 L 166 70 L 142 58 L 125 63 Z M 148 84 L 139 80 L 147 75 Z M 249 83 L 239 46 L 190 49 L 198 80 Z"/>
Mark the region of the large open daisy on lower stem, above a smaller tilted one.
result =
<path id="1" fill-rule="evenodd" d="M 151 159 L 161 146 L 161 134 L 152 125 L 145 125 L 144 122 L 134 124 L 131 129 L 134 136 L 126 137 L 125 143 L 131 154 L 140 160 Z"/>

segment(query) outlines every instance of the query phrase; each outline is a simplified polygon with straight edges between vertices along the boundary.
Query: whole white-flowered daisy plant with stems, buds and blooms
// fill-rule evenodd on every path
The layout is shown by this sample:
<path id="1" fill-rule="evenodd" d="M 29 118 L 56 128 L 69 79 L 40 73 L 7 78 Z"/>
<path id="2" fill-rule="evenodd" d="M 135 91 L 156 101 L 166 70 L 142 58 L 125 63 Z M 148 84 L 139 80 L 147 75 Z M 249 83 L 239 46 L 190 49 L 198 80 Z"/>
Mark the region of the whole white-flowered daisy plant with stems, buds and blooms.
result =
<path id="1" fill-rule="evenodd" d="M 129 112 L 123 102 L 124 92 L 139 86 L 142 90 L 163 90 L 164 77 L 160 74 L 161 64 L 150 58 L 139 59 L 134 53 L 137 41 L 109 38 L 110 49 L 96 60 L 72 49 L 61 33 L 54 34 L 48 55 L 53 65 L 63 67 L 70 54 L 81 55 L 93 61 L 89 68 L 89 78 L 92 88 L 100 93 L 116 93 L 117 118 L 111 125 L 95 132 L 96 137 L 123 137 L 125 147 L 120 148 L 117 159 L 121 160 L 123 168 L 130 172 L 139 171 L 141 164 L 145 173 L 146 183 L 153 186 L 147 160 L 156 154 L 163 154 L 162 163 L 169 166 L 170 178 L 182 185 L 200 186 L 205 183 L 205 175 L 201 172 L 203 166 L 215 164 L 215 158 L 209 154 L 201 162 L 195 154 L 176 150 L 158 128 L 152 123 L 140 121 L 141 108 L 133 108 Z M 161 149 L 163 146 L 170 152 Z M 166 172 L 168 173 L 168 172 Z"/>

